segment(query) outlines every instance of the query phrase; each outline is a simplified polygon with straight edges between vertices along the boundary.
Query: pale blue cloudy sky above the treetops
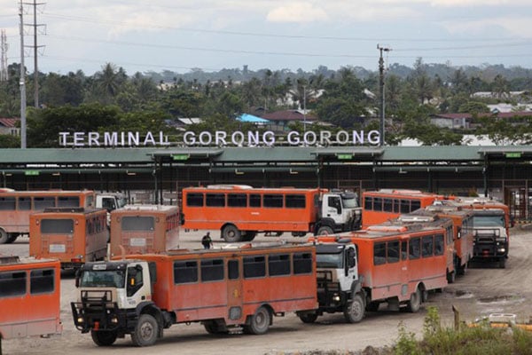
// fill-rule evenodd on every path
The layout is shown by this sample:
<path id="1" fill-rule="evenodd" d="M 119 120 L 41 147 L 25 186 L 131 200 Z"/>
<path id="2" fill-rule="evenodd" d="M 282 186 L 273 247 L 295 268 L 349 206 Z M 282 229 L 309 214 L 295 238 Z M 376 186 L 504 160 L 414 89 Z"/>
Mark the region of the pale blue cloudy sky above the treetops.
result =
<path id="1" fill-rule="evenodd" d="M 24 0 L 24 23 L 34 7 Z M 129 75 L 248 66 L 313 70 L 387 64 L 532 68 L 531 0 L 39 0 L 38 67 Z M 43 4 L 44 3 L 44 4 Z M 43 25 L 43 26 L 41 26 Z M 8 64 L 20 62 L 20 2 L 0 0 Z M 35 45 L 25 26 L 26 46 Z M 42 46 L 42 47 L 41 47 Z M 26 48 L 28 70 L 33 49 Z"/>

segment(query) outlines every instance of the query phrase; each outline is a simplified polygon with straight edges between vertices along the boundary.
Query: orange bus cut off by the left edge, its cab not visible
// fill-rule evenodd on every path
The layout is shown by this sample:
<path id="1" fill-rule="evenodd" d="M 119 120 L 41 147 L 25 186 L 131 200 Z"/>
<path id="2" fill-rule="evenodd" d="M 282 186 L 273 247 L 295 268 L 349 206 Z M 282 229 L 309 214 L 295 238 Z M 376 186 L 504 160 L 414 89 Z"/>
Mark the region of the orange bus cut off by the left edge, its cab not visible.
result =
<path id="1" fill-rule="evenodd" d="M 58 260 L 0 256 L 0 342 L 62 332 L 60 272 Z"/>

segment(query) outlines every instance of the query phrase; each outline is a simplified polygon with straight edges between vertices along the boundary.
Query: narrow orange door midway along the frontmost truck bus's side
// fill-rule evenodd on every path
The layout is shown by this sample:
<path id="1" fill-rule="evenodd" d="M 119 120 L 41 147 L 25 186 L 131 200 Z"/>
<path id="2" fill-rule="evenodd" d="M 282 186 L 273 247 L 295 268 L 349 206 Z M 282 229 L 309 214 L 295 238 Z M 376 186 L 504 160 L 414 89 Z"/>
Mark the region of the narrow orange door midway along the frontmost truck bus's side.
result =
<path id="1" fill-rule="evenodd" d="M 227 261 L 227 324 L 241 324 L 243 319 L 242 308 L 242 279 L 238 258 Z"/>

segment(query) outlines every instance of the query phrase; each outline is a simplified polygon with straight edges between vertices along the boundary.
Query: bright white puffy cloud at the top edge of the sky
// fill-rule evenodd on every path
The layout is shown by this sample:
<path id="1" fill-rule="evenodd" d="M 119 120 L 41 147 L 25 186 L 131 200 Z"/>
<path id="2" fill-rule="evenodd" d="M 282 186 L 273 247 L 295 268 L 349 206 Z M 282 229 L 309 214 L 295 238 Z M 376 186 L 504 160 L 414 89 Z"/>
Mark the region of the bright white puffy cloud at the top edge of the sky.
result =
<path id="1" fill-rule="evenodd" d="M 270 22 L 314 22 L 328 20 L 324 9 L 310 3 L 290 3 L 281 5 L 268 13 Z"/>

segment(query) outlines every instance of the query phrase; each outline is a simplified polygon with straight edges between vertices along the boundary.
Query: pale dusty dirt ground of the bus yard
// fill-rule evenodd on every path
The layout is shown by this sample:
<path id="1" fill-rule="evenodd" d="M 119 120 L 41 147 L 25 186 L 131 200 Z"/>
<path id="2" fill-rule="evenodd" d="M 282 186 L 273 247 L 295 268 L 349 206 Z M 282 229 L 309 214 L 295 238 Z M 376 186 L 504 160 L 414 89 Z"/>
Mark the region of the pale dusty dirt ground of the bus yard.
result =
<path id="1" fill-rule="evenodd" d="M 181 233 L 182 248 L 200 248 L 200 232 Z M 215 236 L 215 248 L 222 245 Z M 286 241 L 301 241 L 281 236 Z M 258 241 L 277 238 L 258 237 Z M 63 334 L 49 338 L 11 339 L 2 342 L 5 354 L 201 354 L 231 355 L 282 354 L 304 351 L 359 351 L 367 346 L 391 345 L 397 339 L 397 328 L 403 322 L 408 331 L 421 334 L 427 306 L 439 309 L 442 322 L 452 325 L 454 305 L 461 319 L 471 321 L 493 312 L 515 313 L 519 321 L 532 317 L 532 229 L 512 228 L 510 258 L 505 269 L 497 264 L 473 264 L 455 283 L 438 294 L 430 294 L 418 313 L 388 312 L 381 307 L 358 324 L 346 324 L 343 315 L 330 314 L 315 324 L 303 324 L 294 314 L 274 318 L 266 335 L 209 335 L 200 324 L 176 325 L 165 330 L 164 337 L 151 348 L 133 347 L 129 336 L 119 339 L 110 348 L 99 348 L 74 328 L 70 302 L 74 301 L 74 277 L 64 272 L 61 280 L 61 319 Z M 28 239 L 20 238 L 11 245 L 0 245 L 0 254 L 27 256 Z M 1 312 L 1 310 L 0 310 Z"/>

